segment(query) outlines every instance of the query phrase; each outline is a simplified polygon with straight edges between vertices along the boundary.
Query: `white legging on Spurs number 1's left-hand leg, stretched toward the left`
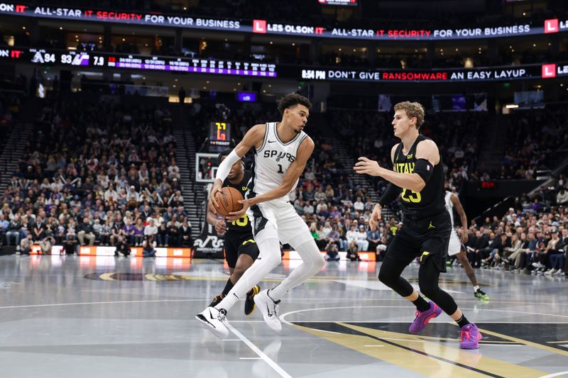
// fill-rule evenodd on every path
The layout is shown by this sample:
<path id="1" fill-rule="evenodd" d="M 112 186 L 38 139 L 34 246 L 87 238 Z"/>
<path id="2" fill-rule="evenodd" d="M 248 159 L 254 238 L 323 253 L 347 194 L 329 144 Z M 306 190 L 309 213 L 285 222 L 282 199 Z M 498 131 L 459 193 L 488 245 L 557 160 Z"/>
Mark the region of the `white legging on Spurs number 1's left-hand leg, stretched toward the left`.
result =
<path id="1" fill-rule="evenodd" d="M 263 232 L 266 232 L 266 230 L 263 230 Z M 272 269 L 278 267 L 282 261 L 278 238 L 265 238 L 261 243 L 258 243 L 258 250 L 260 251 L 258 259 L 249 269 L 246 269 L 239 281 L 229 291 L 229 294 L 226 294 L 215 308 L 224 308 L 229 311 L 236 304 L 236 301 L 244 298 L 254 285 L 261 282 L 261 279 L 266 277 L 266 274 L 270 273 Z"/>

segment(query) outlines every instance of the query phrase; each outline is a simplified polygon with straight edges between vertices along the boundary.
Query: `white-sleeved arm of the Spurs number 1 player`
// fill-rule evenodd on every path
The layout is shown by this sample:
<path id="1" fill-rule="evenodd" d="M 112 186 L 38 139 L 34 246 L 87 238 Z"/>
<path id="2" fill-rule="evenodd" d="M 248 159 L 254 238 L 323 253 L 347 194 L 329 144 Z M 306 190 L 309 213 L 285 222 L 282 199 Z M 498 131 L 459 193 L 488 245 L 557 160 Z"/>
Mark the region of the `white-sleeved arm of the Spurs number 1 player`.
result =
<path id="1" fill-rule="evenodd" d="M 217 175 L 215 176 L 215 182 L 213 187 L 211 188 L 211 194 L 209 195 L 209 207 L 213 211 L 213 213 L 217 213 L 217 208 L 219 204 L 217 204 L 217 200 L 215 200 L 215 193 L 217 191 L 221 191 L 223 182 L 225 181 L 226 177 L 229 176 L 229 172 L 231 171 L 231 167 L 234 163 L 238 162 L 241 157 L 246 155 L 246 152 L 249 152 L 251 148 L 257 147 L 259 148 L 264 140 L 264 135 L 266 133 L 266 126 L 265 125 L 255 125 L 251 128 L 251 130 L 247 131 L 243 137 L 243 140 L 239 142 L 238 145 L 229 153 L 227 157 L 219 164 L 217 168 Z"/>

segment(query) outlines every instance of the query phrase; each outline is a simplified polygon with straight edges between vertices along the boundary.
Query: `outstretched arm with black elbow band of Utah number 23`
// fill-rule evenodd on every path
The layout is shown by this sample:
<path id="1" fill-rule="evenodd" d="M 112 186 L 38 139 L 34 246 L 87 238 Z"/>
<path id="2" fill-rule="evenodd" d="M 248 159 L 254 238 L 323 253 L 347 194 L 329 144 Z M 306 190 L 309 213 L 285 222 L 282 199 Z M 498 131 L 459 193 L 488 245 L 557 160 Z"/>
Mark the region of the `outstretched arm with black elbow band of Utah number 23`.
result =
<path id="1" fill-rule="evenodd" d="M 436 143 L 432 140 L 422 140 L 416 146 L 416 163 L 414 173 L 404 174 L 391 171 L 378 165 L 378 162 L 359 157 L 354 169 L 359 174 L 380 176 L 397 187 L 420 192 L 430 180 L 434 166 L 439 162 L 439 152 Z"/>

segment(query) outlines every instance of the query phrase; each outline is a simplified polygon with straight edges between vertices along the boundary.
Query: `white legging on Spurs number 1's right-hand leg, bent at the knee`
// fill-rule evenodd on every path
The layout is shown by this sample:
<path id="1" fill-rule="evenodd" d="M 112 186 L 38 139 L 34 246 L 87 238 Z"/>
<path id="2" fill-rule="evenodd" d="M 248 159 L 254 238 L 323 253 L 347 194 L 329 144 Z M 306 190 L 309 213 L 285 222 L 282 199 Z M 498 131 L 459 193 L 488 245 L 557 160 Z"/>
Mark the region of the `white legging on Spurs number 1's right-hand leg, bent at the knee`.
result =
<path id="1" fill-rule="evenodd" d="M 309 240 L 297 247 L 294 245 L 292 246 L 295 250 L 297 250 L 298 254 L 304 261 L 301 265 L 296 267 L 283 282 L 280 282 L 277 287 L 268 291 L 268 294 L 273 301 L 280 300 L 280 298 L 282 298 L 284 294 L 288 293 L 290 289 L 297 287 L 317 272 L 320 272 L 320 269 L 322 269 L 325 264 L 325 259 L 320 253 L 320 250 L 317 248 L 315 240 Z"/>

